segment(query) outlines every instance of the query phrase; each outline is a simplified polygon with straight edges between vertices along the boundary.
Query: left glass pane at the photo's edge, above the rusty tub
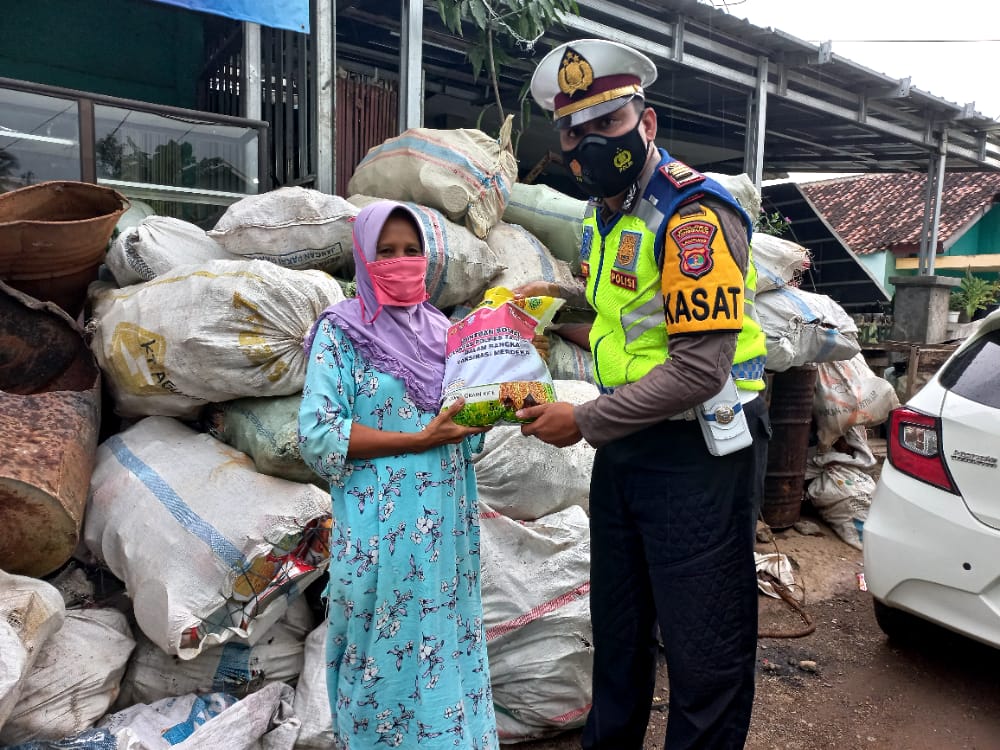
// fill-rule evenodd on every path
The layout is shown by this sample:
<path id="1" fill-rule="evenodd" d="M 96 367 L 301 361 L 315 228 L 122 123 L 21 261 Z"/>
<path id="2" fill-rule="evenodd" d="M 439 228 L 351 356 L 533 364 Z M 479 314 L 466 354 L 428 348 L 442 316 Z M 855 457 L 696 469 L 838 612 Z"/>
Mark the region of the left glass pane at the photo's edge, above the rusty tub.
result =
<path id="1" fill-rule="evenodd" d="M 76 101 L 0 88 L 0 193 L 79 179 Z"/>

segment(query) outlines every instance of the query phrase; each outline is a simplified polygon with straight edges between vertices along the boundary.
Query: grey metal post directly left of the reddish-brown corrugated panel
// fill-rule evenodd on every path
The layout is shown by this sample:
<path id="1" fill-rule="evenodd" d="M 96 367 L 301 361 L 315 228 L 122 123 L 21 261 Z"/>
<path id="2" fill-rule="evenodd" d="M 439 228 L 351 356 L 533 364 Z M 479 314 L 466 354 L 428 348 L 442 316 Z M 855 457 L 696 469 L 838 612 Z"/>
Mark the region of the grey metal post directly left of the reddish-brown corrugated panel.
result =
<path id="1" fill-rule="evenodd" d="M 337 2 L 316 0 L 316 189 L 337 191 Z"/>

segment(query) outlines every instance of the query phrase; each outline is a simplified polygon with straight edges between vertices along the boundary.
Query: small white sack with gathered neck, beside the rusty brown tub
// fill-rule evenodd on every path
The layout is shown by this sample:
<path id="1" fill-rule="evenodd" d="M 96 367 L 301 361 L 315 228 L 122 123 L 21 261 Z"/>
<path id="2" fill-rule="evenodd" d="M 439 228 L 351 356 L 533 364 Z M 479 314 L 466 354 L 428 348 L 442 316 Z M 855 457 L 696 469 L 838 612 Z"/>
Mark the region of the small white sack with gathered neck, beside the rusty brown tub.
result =
<path id="1" fill-rule="evenodd" d="M 150 216 L 118 235 L 104 259 L 118 286 L 150 281 L 177 266 L 210 260 L 242 260 L 197 224 Z"/>

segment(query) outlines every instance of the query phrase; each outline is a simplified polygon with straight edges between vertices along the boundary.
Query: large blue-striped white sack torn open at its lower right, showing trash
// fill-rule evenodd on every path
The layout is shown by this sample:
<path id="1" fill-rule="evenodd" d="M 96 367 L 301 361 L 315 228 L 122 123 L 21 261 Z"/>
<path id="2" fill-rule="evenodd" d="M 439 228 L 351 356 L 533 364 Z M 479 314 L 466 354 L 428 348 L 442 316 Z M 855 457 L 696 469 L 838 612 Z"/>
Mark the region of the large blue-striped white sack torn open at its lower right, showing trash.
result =
<path id="1" fill-rule="evenodd" d="M 285 613 L 326 567 L 307 527 L 329 515 L 318 487 L 261 474 L 210 435 L 148 417 L 98 446 L 84 540 L 125 582 L 146 637 L 192 659 Z"/>

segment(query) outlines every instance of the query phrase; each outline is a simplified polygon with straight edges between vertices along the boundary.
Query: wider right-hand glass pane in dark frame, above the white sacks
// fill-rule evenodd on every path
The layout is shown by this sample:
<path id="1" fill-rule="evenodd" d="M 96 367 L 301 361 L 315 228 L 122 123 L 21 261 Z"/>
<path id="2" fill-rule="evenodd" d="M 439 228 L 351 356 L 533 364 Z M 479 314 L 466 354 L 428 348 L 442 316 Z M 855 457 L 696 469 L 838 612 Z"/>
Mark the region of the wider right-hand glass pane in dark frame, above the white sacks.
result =
<path id="1" fill-rule="evenodd" d="M 212 227 L 230 204 L 257 193 L 258 133 L 98 104 L 97 181 L 155 213 Z"/>

